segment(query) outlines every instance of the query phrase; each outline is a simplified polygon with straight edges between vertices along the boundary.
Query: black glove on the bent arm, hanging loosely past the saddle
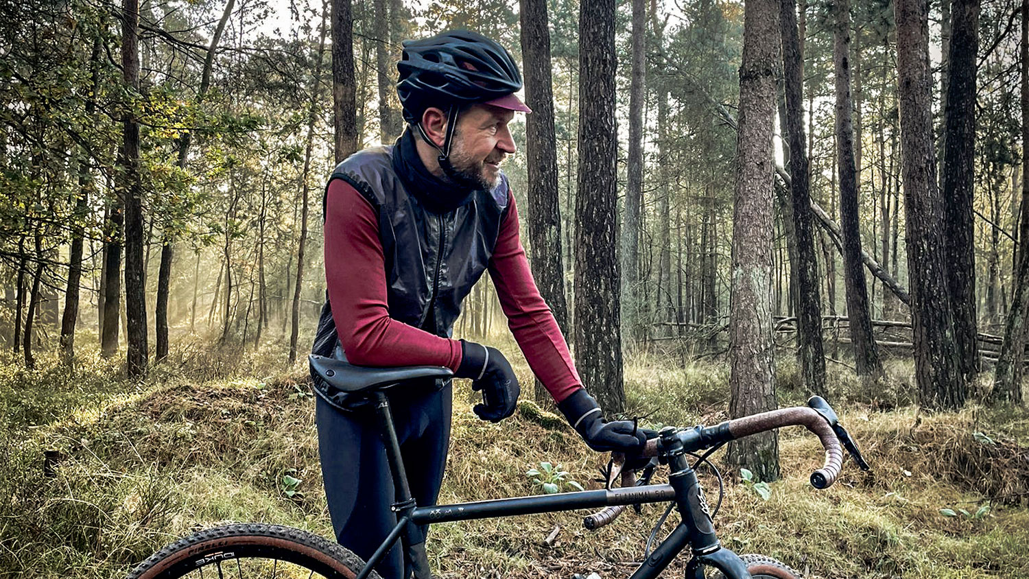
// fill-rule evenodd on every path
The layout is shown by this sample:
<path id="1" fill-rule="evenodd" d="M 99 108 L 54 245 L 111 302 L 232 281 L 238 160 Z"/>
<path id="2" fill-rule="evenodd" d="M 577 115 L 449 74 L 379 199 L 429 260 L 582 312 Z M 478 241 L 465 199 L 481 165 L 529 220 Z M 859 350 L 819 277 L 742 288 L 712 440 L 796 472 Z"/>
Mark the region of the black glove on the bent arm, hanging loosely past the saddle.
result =
<path id="1" fill-rule="evenodd" d="M 472 411 L 484 421 L 500 422 L 514 413 L 522 388 L 507 358 L 496 348 L 461 340 L 461 365 L 455 377 L 471 378 L 471 389 L 483 391 L 483 403 Z"/>

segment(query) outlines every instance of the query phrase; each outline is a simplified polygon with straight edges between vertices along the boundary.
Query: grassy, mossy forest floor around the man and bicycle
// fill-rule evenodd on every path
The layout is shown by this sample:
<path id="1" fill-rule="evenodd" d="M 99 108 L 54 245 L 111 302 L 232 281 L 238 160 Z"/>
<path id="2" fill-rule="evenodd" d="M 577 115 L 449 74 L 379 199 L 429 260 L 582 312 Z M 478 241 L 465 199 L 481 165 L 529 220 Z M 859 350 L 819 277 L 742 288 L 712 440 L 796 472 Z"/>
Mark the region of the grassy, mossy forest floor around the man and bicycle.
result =
<path id="1" fill-rule="evenodd" d="M 227 521 L 289 524 L 330 536 L 312 394 L 303 362 L 283 370 L 281 345 L 240 355 L 197 342 L 144 382 L 98 356 L 26 371 L 0 359 L 0 577 L 123 577 L 162 545 Z M 504 345 L 531 392 L 513 342 Z M 827 491 L 808 484 L 817 440 L 781 432 L 783 480 L 725 480 L 715 519 L 723 544 L 764 552 L 811 578 L 1000 578 L 1029 572 L 1029 413 L 970 404 L 926 414 L 911 404 L 910 362 L 879 385 L 830 368 L 830 398 L 873 466 L 844 465 Z M 650 426 L 726 418 L 729 370 L 644 352 L 626 367 L 629 413 Z M 780 404 L 803 403 L 781 361 Z M 538 494 L 525 473 L 561 465 L 587 488 L 603 458 L 562 420 L 522 401 L 494 425 L 455 389 L 441 503 Z M 719 458 L 716 464 L 722 466 Z M 722 468 L 724 472 L 724 468 Z M 717 482 L 704 475 L 714 501 Z M 559 482 L 559 484 L 565 484 Z M 566 486 L 563 490 L 570 490 Z M 628 577 L 664 506 L 589 532 L 581 511 L 441 524 L 430 557 L 443 578 Z M 665 523 L 671 531 L 675 515 Z M 557 538 L 544 538 L 560 526 Z M 665 576 L 681 576 L 681 565 Z"/>

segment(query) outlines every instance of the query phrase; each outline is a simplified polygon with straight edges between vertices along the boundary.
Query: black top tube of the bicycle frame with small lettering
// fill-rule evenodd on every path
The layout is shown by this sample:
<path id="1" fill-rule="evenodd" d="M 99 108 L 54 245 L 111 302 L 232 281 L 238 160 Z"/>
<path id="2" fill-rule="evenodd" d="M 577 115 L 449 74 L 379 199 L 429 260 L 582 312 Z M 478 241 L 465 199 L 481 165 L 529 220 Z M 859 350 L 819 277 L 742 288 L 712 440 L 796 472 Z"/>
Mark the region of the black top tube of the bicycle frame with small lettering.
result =
<path id="1" fill-rule="evenodd" d="M 560 495 L 418 507 L 412 513 L 411 520 L 415 524 L 429 524 L 496 516 L 595 509 L 636 503 L 661 503 L 674 499 L 675 490 L 670 484 L 648 484 L 610 491 L 580 491 Z"/>

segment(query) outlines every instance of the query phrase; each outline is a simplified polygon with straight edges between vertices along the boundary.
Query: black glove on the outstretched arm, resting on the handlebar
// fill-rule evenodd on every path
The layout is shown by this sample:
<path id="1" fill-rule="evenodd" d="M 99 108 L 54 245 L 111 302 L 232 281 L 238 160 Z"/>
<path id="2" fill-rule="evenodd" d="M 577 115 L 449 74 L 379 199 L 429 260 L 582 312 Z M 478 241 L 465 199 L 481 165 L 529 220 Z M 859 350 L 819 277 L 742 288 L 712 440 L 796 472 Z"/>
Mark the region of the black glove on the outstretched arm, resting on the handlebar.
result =
<path id="1" fill-rule="evenodd" d="M 583 388 L 562 400 L 558 409 L 587 445 L 598 453 L 636 455 L 643 450 L 648 438 L 658 436 L 652 430 L 637 428 L 632 421 L 605 421 L 600 405 Z"/>

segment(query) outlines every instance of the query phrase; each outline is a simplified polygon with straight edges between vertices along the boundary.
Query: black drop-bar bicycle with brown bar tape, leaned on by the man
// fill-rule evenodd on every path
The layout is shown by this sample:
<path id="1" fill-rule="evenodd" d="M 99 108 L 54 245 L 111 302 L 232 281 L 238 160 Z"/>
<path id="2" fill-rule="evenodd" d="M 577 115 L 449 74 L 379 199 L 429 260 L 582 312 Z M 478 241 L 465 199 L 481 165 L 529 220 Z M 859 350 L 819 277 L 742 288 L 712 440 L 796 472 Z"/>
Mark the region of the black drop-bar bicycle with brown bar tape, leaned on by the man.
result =
<path id="1" fill-rule="evenodd" d="M 405 549 L 411 546 L 409 523 L 435 524 L 603 507 L 583 519 L 588 529 L 595 530 L 610 523 L 628 506 L 661 502 L 670 502 L 670 505 L 647 541 L 645 559 L 630 579 L 657 578 L 687 546 L 691 557 L 686 564 L 686 577 L 703 579 L 705 568 L 710 567 L 728 579 L 800 579 L 799 573 L 775 559 L 762 555 L 740 556 L 721 546 L 712 521 L 721 504 L 721 475 L 708 458 L 731 440 L 795 425 L 805 426 L 817 435 L 825 449 L 824 466 L 812 473 L 810 479 L 816 488 L 826 488 L 837 479 L 844 448 L 862 470 L 870 470 L 836 412 L 825 400 L 815 396 L 807 406 L 780 408 L 712 427 L 665 427 L 642 453 L 642 458 L 649 462 L 640 469 L 642 474 L 638 480 L 635 470 L 623 469 L 625 457 L 615 454 L 608 465 L 607 484 L 603 490 L 420 507 L 415 504 L 407 486 L 386 391 L 413 379 L 446 379 L 451 377 L 451 370 L 435 366 L 368 368 L 320 356 L 311 356 L 310 360 L 313 375 L 326 381 L 359 405 L 374 406 L 383 428 L 397 493 L 393 504 L 397 523 L 378 550 L 365 563 L 345 547 L 306 531 L 274 524 L 230 524 L 202 531 L 166 546 L 140 564 L 129 579 L 203 578 L 205 570 L 210 572 L 209 576 L 219 579 L 227 576 L 310 578 L 316 573 L 327 579 L 380 579 L 372 569 L 396 541 L 401 541 Z M 701 451 L 704 454 L 698 455 Z M 696 459 L 693 465 L 690 458 Z M 714 470 L 719 483 L 718 503 L 713 513 L 696 471 L 705 463 Z M 669 466 L 669 481 L 651 484 L 650 477 L 659 464 Z M 612 487 L 612 481 L 619 476 L 622 486 Z M 650 543 L 673 507 L 678 508 L 681 521 L 651 551 Z M 424 544 L 421 548 L 424 549 Z M 414 564 L 415 578 L 431 578 L 424 550 L 415 558 L 419 559 Z"/>

